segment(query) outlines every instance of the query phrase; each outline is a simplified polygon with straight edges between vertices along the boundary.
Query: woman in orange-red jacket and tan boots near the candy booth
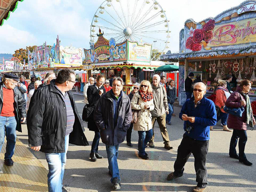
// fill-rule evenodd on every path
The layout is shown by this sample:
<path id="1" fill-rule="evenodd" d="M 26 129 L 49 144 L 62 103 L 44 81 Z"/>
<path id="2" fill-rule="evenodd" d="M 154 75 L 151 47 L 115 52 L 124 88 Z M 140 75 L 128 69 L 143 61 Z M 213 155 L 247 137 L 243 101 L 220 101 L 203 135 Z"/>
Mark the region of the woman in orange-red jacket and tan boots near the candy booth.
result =
<path id="1" fill-rule="evenodd" d="M 221 119 L 221 125 L 223 126 L 223 131 L 230 131 L 227 126 L 228 113 L 226 113 L 223 108 L 225 106 L 225 102 L 230 96 L 229 91 L 227 90 L 227 82 L 225 80 L 218 80 L 219 86 L 216 91 L 216 100 L 215 105 L 220 108 L 220 114 L 217 116 L 217 122 Z M 231 128 L 231 127 L 230 127 Z M 210 130 L 213 131 L 213 126 L 210 126 Z"/>

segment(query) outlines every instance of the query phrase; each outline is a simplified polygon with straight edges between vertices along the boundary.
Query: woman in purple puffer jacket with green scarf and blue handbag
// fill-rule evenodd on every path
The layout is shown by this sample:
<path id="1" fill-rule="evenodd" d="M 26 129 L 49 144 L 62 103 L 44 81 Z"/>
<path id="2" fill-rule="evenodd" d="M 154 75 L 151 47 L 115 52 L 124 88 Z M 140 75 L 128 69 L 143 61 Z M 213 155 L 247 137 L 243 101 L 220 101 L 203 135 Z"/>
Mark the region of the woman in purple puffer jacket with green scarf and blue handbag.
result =
<path id="1" fill-rule="evenodd" d="M 245 165 L 252 165 L 246 158 L 244 154 L 245 144 L 247 142 L 247 125 L 253 127 L 255 125 L 255 120 L 252 115 L 252 108 L 248 93 L 251 89 L 251 83 L 249 80 L 241 81 L 240 85 L 234 93 L 230 95 L 227 99 L 225 105 L 228 107 L 244 107 L 244 112 L 242 117 L 229 114 L 228 116 L 228 127 L 233 128 L 233 134 L 229 146 L 229 156 L 231 158 L 239 159 L 239 162 Z M 237 141 L 239 138 L 239 156 L 236 152 Z"/>

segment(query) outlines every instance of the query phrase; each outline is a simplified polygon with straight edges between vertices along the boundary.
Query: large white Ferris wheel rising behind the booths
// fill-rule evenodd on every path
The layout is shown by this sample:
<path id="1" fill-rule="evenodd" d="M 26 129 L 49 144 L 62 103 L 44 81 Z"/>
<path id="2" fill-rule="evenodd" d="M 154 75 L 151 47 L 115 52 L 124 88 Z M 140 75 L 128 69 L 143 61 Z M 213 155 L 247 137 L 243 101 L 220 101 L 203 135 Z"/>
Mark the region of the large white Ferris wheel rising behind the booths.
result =
<path id="1" fill-rule="evenodd" d="M 126 39 L 152 44 L 152 60 L 159 60 L 169 48 L 169 20 L 155 0 L 105 0 L 92 18 L 91 42 L 99 29 L 106 39 L 114 38 L 117 44 Z"/>

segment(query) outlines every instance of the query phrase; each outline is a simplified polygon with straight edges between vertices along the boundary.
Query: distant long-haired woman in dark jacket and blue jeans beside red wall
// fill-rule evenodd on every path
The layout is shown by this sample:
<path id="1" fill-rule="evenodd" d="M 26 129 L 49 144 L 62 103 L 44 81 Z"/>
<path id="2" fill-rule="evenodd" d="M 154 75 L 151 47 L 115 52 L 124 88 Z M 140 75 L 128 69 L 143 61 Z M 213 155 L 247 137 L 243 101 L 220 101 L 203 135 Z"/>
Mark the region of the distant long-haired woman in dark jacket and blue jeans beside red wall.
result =
<path id="1" fill-rule="evenodd" d="M 167 102 L 168 102 L 168 110 L 169 114 L 166 115 L 166 124 L 171 125 L 171 118 L 173 114 L 173 104 L 176 99 L 176 89 L 174 87 L 174 80 L 170 80 L 168 86 L 166 86 L 166 93 L 167 93 Z"/>

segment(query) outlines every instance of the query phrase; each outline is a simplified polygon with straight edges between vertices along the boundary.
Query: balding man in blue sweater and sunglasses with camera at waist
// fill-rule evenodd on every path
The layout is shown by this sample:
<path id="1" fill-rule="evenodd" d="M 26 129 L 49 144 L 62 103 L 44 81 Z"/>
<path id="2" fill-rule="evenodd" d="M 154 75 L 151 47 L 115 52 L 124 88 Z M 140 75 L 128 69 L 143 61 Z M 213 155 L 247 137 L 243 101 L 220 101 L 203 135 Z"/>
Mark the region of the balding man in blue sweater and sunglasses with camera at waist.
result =
<path id="1" fill-rule="evenodd" d="M 174 163 L 174 172 L 167 176 L 168 180 L 181 177 L 184 165 L 191 153 L 195 157 L 197 186 L 193 191 L 204 191 L 207 182 L 206 156 L 208 153 L 210 126 L 217 123 L 214 102 L 205 98 L 206 86 L 199 82 L 194 84 L 194 97 L 186 100 L 179 114 L 184 120 L 183 139 L 178 147 L 177 159 Z"/>

